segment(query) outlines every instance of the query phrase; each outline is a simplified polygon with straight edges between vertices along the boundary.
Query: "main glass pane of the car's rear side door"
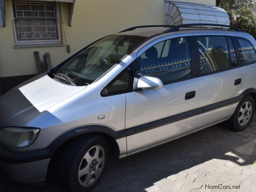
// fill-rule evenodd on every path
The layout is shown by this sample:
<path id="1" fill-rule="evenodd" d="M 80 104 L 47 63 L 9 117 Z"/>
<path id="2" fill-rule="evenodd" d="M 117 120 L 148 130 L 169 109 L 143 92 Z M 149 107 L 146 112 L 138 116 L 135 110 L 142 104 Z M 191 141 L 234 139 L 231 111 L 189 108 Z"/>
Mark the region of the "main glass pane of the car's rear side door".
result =
<path id="1" fill-rule="evenodd" d="M 228 44 L 225 36 L 197 36 L 201 74 L 229 68 Z"/>

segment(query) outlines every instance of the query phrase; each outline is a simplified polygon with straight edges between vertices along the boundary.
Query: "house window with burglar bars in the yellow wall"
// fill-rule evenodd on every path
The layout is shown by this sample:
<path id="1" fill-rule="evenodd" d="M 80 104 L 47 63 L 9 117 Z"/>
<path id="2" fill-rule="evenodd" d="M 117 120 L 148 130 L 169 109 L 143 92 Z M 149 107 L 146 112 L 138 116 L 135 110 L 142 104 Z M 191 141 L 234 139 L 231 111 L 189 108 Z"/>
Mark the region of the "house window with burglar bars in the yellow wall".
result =
<path id="1" fill-rule="evenodd" d="M 13 1 L 16 43 L 61 43 L 55 2 Z"/>

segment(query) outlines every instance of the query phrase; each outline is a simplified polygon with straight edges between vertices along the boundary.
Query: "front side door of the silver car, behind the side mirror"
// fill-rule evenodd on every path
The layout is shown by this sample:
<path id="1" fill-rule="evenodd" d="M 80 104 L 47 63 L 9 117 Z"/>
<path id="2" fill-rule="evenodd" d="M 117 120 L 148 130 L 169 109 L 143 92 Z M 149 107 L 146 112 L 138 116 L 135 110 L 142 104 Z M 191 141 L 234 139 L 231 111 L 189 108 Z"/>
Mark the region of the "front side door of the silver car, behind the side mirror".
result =
<path id="1" fill-rule="evenodd" d="M 126 94 L 127 154 L 193 132 L 199 85 L 191 33 L 159 38 L 137 54 L 136 77 L 162 80 L 158 90 Z"/>

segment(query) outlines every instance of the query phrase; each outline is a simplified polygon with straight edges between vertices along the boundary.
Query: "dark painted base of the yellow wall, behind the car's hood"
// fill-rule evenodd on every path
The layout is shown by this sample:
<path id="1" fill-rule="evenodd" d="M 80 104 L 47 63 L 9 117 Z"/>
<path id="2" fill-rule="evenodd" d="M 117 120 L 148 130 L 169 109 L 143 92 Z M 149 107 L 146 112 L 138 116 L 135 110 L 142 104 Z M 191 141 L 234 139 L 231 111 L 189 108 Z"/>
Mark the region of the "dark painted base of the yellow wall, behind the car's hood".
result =
<path id="1" fill-rule="evenodd" d="M 7 91 L 11 90 L 13 87 L 18 84 L 27 81 L 28 79 L 37 76 L 37 74 L 33 75 L 22 75 L 22 76 L 11 76 L 11 77 L 0 77 L 0 96 Z M 2 91 L 1 91 L 2 87 Z"/>

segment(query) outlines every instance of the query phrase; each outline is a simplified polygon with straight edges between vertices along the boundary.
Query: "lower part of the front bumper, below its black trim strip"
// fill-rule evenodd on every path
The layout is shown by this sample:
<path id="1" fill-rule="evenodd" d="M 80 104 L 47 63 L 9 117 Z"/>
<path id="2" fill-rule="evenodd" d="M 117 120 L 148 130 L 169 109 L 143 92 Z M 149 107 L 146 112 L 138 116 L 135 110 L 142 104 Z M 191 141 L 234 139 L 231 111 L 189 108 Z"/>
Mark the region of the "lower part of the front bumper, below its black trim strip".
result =
<path id="1" fill-rule="evenodd" d="M 0 161 L 0 173 L 17 183 L 30 183 L 46 179 L 49 159 L 22 164 L 7 164 Z"/>

